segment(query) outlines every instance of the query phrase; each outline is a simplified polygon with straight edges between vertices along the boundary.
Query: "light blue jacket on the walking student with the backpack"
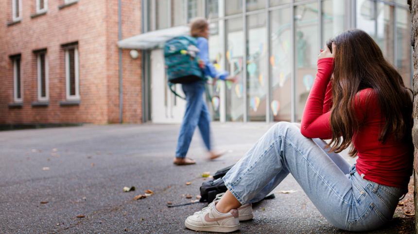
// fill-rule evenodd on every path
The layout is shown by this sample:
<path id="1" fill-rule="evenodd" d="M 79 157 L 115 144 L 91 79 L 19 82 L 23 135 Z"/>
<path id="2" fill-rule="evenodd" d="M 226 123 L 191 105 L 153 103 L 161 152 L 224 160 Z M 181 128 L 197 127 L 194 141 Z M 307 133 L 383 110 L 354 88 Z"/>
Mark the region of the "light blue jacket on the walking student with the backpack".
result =
<path id="1" fill-rule="evenodd" d="M 215 66 L 209 62 L 209 45 L 208 39 L 204 37 L 197 38 L 197 48 L 200 50 L 198 52 L 198 57 L 200 60 L 204 61 L 206 66 L 203 68 L 203 73 L 211 78 L 219 78 L 225 80 L 229 76 L 227 71 L 217 71 Z"/>

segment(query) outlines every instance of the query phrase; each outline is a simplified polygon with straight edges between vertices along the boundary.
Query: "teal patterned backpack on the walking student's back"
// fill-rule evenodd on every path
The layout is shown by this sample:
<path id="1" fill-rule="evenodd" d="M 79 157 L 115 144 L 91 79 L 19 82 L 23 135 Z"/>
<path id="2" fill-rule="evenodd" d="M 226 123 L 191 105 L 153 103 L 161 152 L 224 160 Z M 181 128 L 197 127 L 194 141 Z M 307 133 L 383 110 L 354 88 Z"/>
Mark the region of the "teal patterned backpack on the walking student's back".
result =
<path id="1" fill-rule="evenodd" d="M 173 84 L 205 80 L 204 73 L 197 62 L 198 52 L 196 38 L 192 36 L 178 36 L 165 43 L 165 68 L 170 89 Z M 178 96 L 174 91 L 173 93 Z"/>

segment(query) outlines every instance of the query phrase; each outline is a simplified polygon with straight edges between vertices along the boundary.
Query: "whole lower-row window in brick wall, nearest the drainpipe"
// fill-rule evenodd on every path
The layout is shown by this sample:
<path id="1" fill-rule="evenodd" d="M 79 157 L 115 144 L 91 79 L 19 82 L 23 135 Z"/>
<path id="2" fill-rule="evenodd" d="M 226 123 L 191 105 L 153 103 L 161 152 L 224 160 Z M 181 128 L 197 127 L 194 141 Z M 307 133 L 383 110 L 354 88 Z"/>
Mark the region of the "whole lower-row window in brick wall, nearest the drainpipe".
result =
<path id="1" fill-rule="evenodd" d="M 65 48 L 65 90 L 67 100 L 80 100 L 77 46 Z"/>

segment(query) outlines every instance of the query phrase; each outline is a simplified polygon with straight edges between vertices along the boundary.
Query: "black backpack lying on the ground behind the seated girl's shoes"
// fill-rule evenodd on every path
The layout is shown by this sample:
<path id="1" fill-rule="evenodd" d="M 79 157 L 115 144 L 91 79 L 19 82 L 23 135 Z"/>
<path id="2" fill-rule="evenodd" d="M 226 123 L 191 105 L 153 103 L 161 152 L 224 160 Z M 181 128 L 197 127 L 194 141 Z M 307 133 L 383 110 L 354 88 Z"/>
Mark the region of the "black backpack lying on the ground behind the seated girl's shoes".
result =
<path id="1" fill-rule="evenodd" d="M 226 172 L 228 172 L 229 169 L 231 169 L 234 165 L 217 171 L 213 175 L 213 179 L 203 182 L 202 186 L 200 187 L 200 196 L 202 196 L 200 198 L 201 203 L 211 203 L 215 199 L 216 195 L 228 190 L 225 186 L 224 180 L 222 180 L 222 177 L 224 177 Z"/>

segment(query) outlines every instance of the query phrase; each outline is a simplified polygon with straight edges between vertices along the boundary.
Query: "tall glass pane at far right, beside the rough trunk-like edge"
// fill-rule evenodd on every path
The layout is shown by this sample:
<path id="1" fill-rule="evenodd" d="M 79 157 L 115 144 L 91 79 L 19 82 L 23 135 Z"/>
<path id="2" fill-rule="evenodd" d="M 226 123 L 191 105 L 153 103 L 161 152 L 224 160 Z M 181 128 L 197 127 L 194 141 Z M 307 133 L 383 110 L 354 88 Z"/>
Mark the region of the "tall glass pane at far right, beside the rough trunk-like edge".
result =
<path id="1" fill-rule="evenodd" d="M 398 37 L 398 51 L 396 66 L 401 73 L 406 87 L 411 86 L 411 13 L 407 9 L 396 9 L 396 29 Z"/>

